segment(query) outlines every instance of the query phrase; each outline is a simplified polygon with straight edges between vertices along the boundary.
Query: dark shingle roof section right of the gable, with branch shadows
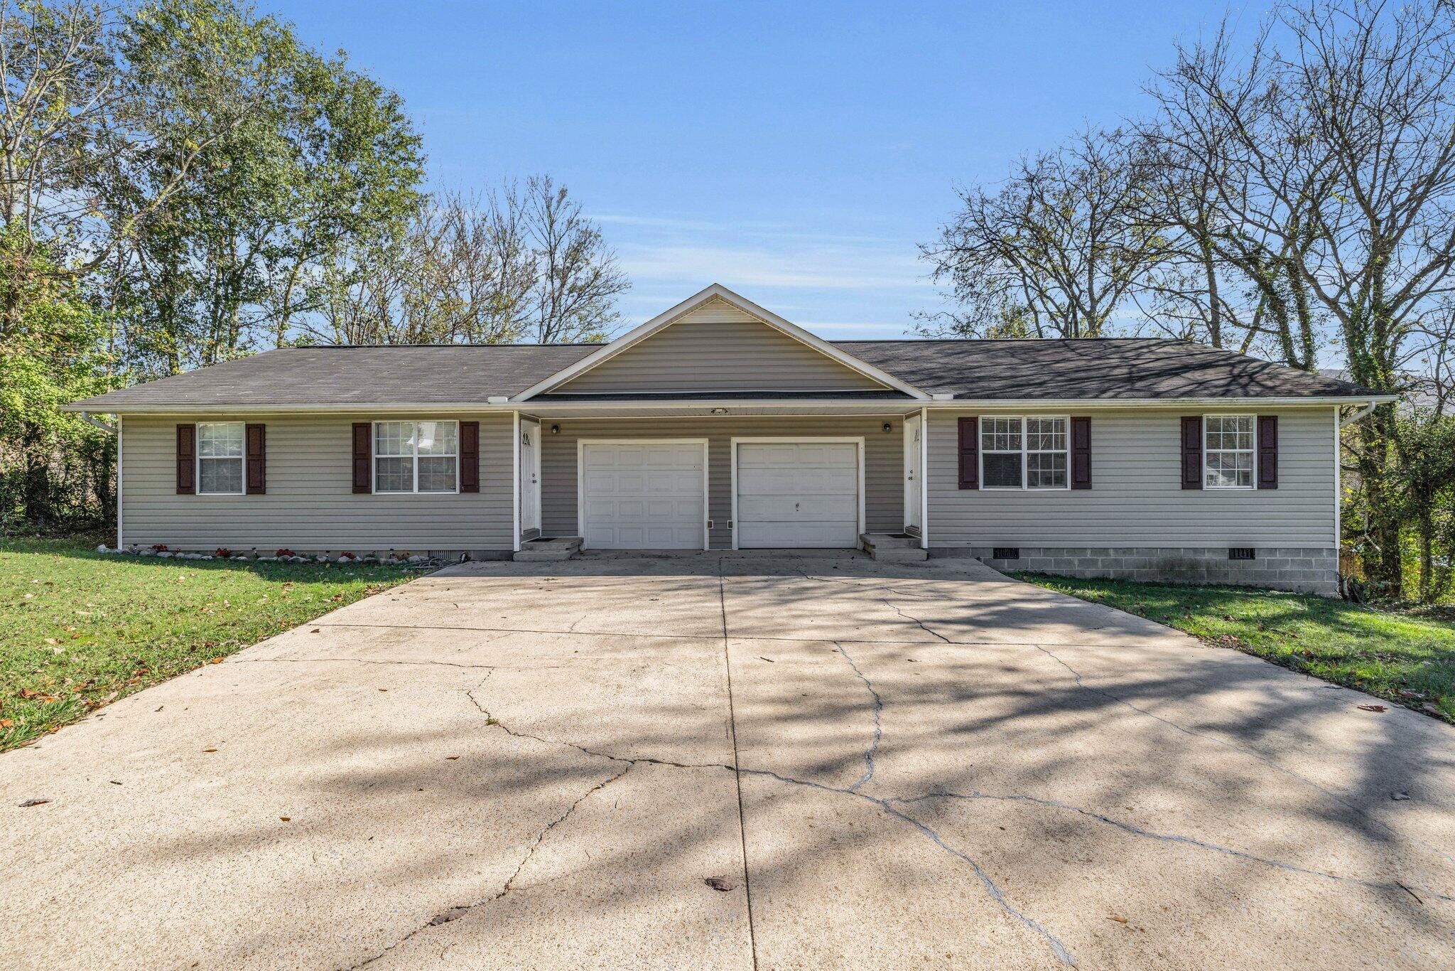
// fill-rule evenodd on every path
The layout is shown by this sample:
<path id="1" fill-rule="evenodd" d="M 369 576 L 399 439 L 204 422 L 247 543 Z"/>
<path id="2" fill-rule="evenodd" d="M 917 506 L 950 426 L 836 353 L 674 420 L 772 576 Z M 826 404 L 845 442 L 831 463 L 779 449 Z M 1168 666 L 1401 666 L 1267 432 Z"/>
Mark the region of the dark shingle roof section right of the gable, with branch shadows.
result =
<path id="1" fill-rule="evenodd" d="M 1190 341 L 837 341 L 924 392 L 970 399 L 1343 397 L 1347 381 Z"/>

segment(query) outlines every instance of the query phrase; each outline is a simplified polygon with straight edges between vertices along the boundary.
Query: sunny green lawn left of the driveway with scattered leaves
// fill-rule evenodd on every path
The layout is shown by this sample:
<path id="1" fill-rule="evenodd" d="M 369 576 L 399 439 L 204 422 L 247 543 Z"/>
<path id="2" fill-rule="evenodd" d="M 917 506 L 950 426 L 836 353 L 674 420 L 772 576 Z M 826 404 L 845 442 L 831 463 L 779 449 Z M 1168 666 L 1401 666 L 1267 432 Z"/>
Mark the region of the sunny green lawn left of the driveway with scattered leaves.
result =
<path id="1" fill-rule="evenodd" d="M 416 575 L 0 539 L 0 751 Z"/>

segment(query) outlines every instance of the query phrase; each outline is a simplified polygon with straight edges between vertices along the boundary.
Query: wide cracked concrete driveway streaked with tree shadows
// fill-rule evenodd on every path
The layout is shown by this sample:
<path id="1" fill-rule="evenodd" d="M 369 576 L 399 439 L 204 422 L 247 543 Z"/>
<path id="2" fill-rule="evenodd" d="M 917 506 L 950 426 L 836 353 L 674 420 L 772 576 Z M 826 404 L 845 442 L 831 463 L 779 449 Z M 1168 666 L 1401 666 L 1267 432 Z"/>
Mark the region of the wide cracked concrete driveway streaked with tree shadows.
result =
<path id="1" fill-rule="evenodd" d="M 1452 967 L 1369 700 L 965 560 L 469 565 L 0 756 L 0 965 Z"/>

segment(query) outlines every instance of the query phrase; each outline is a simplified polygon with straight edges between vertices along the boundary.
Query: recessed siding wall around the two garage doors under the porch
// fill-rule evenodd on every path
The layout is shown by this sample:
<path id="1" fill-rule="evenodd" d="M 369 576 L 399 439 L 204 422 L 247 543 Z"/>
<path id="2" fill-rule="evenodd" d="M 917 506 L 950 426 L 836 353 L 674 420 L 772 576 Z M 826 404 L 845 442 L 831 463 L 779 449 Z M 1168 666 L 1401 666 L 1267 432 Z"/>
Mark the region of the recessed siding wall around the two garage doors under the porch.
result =
<path id="1" fill-rule="evenodd" d="M 890 431 L 883 424 L 890 422 Z M 551 425 L 560 425 L 551 434 Z M 576 536 L 578 438 L 707 438 L 710 544 L 732 549 L 732 440 L 749 437 L 863 437 L 864 521 L 870 531 L 904 528 L 904 419 L 851 418 L 675 418 L 541 421 L 541 524 L 546 536 Z"/>

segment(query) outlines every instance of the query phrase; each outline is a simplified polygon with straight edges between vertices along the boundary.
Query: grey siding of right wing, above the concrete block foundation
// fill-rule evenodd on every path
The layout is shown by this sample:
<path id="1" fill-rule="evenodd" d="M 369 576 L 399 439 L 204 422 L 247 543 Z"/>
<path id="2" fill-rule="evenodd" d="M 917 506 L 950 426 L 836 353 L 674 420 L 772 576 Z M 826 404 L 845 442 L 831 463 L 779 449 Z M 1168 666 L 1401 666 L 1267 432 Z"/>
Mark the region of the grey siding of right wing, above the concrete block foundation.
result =
<path id="1" fill-rule="evenodd" d="M 1199 412 L 1160 408 L 1081 412 L 1091 491 L 959 489 L 957 418 L 1010 413 L 1065 412 L 930 413 L 931 549 L 1334 546 L 1333 409 L 1257 409 L 1279 416 L 1277 489 L 1183 491 L 1180 418 Z"/>

